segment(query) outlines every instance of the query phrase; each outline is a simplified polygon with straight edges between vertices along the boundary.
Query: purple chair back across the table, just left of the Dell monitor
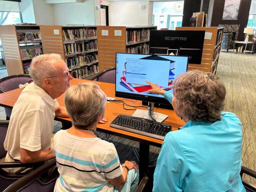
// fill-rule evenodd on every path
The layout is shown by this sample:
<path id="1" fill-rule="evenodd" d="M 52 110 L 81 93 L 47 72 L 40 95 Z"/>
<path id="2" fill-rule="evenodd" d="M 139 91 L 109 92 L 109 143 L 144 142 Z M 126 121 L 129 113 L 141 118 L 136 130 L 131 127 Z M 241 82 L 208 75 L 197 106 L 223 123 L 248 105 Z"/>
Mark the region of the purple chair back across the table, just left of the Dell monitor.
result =
<path id="1" fill-rule="evenodd" d="M 104 71 L 94 75 L 91 79 L 88 80 L 96 80 L 100 82 L 105 82 L 105 83 L 115 83 L 116 81 L 116 68 L 111 67 L 108 69 L 105 69 Z"/>

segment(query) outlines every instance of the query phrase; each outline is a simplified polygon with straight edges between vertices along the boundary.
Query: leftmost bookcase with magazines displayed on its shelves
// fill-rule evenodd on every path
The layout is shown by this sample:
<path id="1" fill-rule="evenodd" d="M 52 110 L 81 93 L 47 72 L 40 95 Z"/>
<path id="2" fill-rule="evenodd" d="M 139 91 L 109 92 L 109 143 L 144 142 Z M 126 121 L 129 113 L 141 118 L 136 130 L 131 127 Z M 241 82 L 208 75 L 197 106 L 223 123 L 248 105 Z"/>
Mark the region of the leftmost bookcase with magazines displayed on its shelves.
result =
<path id="1" fill-rule="evenodd" d="M 29 63 L 35 56 L 35 53 L 38 53 L 34 52 L 35 49 L 40 49 L 42 53 L 41 40 L 29 41 L 29 36 L 31 38 L 33 33 L 38 32 L 40 32 L 39 25 L 0 25 L 0 38 L 8 75 L 24 74 L 25 72 L 28 73 L 27 70 L 24 70 L 23 65 L 24 67 L 29 67 Z M 19 33 L 24 34 L 24 42 L 19 41 Z M 27 38 L 25 38 L 25 36 L 27 36 Z M 26 50 L 25 52 L 30 50 L 30 58 L 22 58 L 21 50 Z M 31 53 L 32 51 L 33 54 Z"/>

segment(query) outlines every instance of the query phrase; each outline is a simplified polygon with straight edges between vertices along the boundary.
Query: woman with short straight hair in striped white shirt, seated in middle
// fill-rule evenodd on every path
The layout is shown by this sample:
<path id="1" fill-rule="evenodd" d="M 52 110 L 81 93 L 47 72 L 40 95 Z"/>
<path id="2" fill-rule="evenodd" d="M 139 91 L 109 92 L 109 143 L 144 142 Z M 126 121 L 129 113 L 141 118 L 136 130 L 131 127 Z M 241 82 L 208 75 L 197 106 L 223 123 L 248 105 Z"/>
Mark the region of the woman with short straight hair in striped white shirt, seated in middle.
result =
<path id="1" fill-rule="evenodd" d="M 122 165 L 112 143 L 101 140 L 97 123 L 104 117 L 106 94 L 91 82 L 65 92 L 65 106 L 73 127 L 54 137 L 54 154 L 60 177 L 54 191 L 131 191 L 138 186 L 138 165 Z"/>

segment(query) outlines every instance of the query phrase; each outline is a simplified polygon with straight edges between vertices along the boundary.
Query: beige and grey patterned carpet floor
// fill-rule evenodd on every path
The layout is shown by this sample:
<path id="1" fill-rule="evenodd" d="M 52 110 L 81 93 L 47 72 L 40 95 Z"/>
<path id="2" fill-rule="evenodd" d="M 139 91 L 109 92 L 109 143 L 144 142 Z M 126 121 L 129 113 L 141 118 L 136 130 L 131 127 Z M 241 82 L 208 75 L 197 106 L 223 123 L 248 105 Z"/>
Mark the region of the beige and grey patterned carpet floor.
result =
<path id="1" fill-rule="evenodd" d="M 0 70 L 0 77 L 6 74 Z M 242 122 L 243 143 L 242 143 L 242 165 L 256 170 L 256 55 L 249 53 L 232 53 L 231 50 L 225 53 L 220 52 L 216 74 L 225 84 L 227 95 L 225 100 L 225 111 L 235 113 Z M 0 119 L 5 119 L 4 108 L 0 107 Z M 61 123 L 54 122 L 54 132 L 61 128 Z M 135 160 L 132 149 L 139 148 L 136 141 L 99 133 L 99 136 L 109 142 L 113 142 L 120 161 Z M 155 165 L 160 148 L 150 146 L 150 165 Z M 255 179 L 245 177 L 246 180 L 256 184 Z"/>

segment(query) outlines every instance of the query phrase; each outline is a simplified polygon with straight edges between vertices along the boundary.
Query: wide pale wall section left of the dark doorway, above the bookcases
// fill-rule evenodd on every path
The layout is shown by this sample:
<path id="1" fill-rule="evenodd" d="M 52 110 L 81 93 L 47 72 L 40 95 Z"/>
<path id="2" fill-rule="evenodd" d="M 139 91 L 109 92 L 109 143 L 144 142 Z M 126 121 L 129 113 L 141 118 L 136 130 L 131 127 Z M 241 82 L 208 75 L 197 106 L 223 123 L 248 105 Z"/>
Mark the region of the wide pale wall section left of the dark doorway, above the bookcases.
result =
<path id="1" fill-rule="evenodd" d="M 100 9 L 98 11 L 100 17 Z M 54 25 L 95 25 L 94 0 L 87 0 L 84 3 L 54 4 L 53 14 Z"/>

